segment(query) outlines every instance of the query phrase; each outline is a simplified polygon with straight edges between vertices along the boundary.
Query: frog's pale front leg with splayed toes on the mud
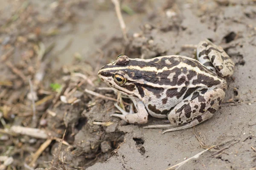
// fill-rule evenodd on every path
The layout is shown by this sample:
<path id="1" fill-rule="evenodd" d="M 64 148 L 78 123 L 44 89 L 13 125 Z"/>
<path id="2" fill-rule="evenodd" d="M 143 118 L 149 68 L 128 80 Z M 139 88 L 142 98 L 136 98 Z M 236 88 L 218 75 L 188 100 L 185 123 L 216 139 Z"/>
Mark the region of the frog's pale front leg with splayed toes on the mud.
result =
<path id="1" fill-rule="evenodd" d="M 118 105 L 115 105 L 116 108 L 122 114 L 111 114 L 111 116 L 116 116 L 123 119 L 125 122 L 132 123 L 132 124 L 145 124 L 148 122 L 148 111 L 145 108 L 143 102 L 137 102 L 137 113 L 134 113 L 132 107 L 130 108 L 130 113 L 124 111 Z"/>

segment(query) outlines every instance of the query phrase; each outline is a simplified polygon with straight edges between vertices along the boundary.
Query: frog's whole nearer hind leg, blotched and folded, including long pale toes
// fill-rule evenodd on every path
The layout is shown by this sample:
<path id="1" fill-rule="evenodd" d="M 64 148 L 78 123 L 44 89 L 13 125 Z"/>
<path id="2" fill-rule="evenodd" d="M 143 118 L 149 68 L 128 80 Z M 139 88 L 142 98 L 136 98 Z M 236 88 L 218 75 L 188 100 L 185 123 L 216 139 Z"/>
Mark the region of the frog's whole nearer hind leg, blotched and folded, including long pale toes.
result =
<path id="1" fill-rule="evenodd" d="M 168 119 L 171 122 L 169 125 L 150 125 L 144 128 L 168 128 L 163 131 L 163 133 L 166 133 L 190 128 L 210 119 L 221 105 L 225 92 L 218 88 L 203 93 L 194 92 L 176 105 L 168 115 Z"/>

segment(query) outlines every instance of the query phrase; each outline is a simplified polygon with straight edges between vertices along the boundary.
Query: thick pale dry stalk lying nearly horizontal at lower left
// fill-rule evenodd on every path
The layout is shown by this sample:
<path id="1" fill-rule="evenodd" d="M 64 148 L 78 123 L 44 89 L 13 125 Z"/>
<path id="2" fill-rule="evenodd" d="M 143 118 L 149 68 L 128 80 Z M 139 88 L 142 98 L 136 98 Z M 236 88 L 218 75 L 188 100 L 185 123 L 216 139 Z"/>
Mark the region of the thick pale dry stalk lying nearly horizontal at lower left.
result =
<path id="1" fill-rule="evenodd" d="M 47 139 L 49 136 L 47 132 L 42 129 L 22 127 L 22 126 L 12 126 L 10 128 L 11 132 L 18 133 L 22 135 L 32 136 L 34 138 Z"/>

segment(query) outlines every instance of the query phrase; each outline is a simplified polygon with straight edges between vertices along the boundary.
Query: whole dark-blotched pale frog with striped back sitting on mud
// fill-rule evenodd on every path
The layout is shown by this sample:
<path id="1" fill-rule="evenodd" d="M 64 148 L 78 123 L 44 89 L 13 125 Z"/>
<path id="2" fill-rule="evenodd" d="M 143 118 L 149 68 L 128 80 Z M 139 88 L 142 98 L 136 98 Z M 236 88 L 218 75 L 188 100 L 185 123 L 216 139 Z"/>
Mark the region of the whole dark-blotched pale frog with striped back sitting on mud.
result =
<path id="1" fill-rule="evenodd" d="M 113 113 L 130 124 L 145 124 L 148 115 L 167 118 L 168 124 L 144 128 L 166 129 L 163 133 L 198 125 L 210 119 L 225 98 L 227 77 L 234 72 L 234 62 L 221 46 L 206 39 L 198 43 L 193 59 L 180 55 L 151 59 L 119 55 L 99 69 L 98 76 L 108 86 L 127 95 L 130 111 L 115 107 Z"/>

